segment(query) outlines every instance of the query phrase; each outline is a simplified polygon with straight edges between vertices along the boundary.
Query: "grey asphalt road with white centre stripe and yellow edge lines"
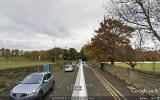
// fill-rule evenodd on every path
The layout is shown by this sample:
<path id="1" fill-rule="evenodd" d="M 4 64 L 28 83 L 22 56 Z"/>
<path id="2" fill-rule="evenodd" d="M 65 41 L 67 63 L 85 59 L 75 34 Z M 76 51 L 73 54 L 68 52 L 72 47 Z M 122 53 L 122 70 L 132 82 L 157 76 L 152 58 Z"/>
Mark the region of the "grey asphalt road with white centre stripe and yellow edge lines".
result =
<path id="1" fill-rule="evenodd" d="M 107 71 L 102 72 L 90 64 L 76 67 L 73 72 L 60 70 L 53 75 L 56 81 L 55 89 L 48 92 L 43 100 L 144 99 L 141 94 L 133 93 L 124 81 L 117 79 Z M 77 86 L 79 86 L 78 89 Z"/>

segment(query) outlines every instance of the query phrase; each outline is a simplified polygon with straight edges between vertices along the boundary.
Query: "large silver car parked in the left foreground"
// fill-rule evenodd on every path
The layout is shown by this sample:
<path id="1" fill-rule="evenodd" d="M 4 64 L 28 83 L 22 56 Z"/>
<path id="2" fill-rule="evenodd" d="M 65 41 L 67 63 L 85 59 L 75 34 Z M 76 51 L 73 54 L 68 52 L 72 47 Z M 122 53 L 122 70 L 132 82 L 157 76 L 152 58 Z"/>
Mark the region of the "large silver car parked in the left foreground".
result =
<path id="1" fill-rule="evenodd" d="M 42 100 L 42 97 L 55 87 L 50 72 L 32 73 L 15 86 L 10 93 L 11 100 Z"/>

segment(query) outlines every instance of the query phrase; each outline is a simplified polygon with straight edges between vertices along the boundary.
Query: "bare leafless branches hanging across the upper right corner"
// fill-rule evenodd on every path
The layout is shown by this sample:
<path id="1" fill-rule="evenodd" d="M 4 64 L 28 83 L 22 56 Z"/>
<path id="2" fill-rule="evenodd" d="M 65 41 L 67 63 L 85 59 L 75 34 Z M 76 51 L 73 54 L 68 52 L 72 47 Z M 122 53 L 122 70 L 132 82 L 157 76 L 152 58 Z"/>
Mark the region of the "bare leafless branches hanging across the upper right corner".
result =
<path id="1" fill-rule="evenodd" d="M 130 24 L 142 31 L 143 35 L 150 35 L 160 41 L 160 0 L 111 0 L 106 10 L 111 17 Z M 110 8 L 110 9 L 109 9 Z"/>

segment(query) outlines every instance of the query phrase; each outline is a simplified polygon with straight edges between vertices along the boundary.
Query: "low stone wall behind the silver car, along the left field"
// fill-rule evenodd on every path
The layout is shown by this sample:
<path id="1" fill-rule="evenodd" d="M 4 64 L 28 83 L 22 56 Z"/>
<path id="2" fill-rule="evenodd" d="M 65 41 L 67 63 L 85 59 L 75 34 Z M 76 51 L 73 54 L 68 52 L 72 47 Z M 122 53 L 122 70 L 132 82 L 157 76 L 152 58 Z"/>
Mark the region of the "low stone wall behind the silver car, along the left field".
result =
<path id="1" fill-rule="evenodd" d="M 50 72 L 63 69 L 65 64 L 67 63 L 50 64 Z M 0 70 L 0 94 L 9 91 L 26 75 L 38 71 L 43 72 L 43 65 Z"/>

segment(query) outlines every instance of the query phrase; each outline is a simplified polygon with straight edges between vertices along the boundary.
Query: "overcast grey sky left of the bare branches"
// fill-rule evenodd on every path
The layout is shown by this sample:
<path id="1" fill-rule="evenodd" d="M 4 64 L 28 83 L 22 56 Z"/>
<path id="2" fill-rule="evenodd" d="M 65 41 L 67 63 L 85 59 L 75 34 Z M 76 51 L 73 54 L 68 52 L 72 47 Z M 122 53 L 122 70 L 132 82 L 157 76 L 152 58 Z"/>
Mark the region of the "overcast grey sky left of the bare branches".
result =
<path id="1" fill-rule="evenodd" d="M 42 50 L 90 41 L 104 0 L 0 0 L 0 48 Z"/>

